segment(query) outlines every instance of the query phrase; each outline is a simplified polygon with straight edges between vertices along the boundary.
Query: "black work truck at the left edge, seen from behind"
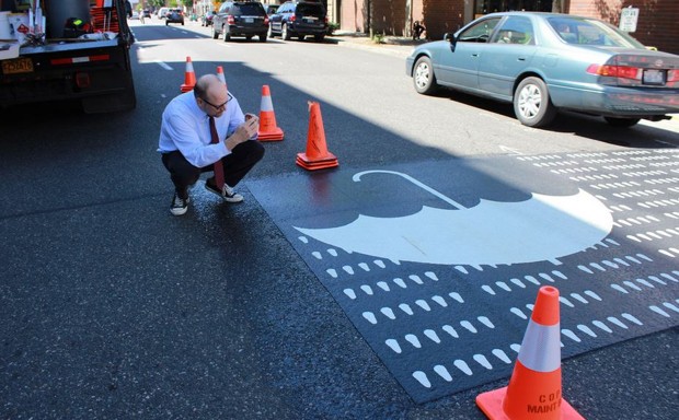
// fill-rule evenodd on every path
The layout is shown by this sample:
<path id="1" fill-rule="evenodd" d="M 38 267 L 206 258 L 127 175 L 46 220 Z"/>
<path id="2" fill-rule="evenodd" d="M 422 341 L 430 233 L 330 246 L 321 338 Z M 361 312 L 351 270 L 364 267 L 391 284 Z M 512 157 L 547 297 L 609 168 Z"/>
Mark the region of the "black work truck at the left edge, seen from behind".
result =
<path id="1" fill-rule="evenodd" d="M 7 10 L 18 3 L 1 4 Z M 127 24 L 127 1 L 35 3 L 41 3 L 39 13 L 46 16 L 45 34 L 26 34 L 31 25 L 22 23 L 11 26 L 26 36 L 18 57 L 0 59 L 0 106 L 79 100 L 88 114 L 134 109 L 137 98 L 129 52 L 135 38 Z M 37 22 L 34 10 L 25 15 L 25 9 L 9 11 L 19 12 L 12 16 L 24 22 L 28 14 L 31 22 Z M 0 39 L 0 47 L 7 40 Z"/>

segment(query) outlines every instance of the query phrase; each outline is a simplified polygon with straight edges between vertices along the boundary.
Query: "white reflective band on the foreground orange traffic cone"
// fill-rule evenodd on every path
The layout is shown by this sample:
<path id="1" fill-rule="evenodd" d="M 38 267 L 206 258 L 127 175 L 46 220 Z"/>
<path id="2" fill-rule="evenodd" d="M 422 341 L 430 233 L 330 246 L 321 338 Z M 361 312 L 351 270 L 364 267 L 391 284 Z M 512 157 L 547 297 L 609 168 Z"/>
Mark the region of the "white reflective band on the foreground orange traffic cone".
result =
<path id="1" fill-rule="evenodd" d="M 518 360 L 536 372 L 553 372 L 561 368 L 561 328 L 528 323 Z"/>

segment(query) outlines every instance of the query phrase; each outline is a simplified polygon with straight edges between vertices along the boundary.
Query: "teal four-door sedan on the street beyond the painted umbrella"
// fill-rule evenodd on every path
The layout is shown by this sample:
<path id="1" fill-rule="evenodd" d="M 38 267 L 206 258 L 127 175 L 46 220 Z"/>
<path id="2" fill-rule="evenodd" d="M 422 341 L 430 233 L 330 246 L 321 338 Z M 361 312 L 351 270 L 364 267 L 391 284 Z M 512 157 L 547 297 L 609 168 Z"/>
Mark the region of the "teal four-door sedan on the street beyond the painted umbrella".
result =
<path id="1" fill-rule="evenodd" d="M 487 14 L 417 46 L 405 71 L 422 94 L 447 86 L 513 103 L 530 127 L 549 125 L 559 109 L 619 127 L 679 113 L 679 56 L 651 50 L 590 18 Z"/>

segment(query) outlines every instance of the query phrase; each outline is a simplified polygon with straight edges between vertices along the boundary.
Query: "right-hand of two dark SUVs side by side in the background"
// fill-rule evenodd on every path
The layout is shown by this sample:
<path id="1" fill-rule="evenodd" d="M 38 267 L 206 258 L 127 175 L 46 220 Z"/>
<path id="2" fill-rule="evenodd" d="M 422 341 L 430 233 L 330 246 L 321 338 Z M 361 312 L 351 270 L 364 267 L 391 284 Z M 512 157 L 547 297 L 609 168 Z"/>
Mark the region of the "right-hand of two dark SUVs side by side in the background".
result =
<path id="1" fill-rule="evenodd" d="M 268 26 L 269 37 L 280 35 L 285 40 L 292 37 L 304 40 L 307 35 L 313 35 L 320 43 L 326 33 L 327 16 L 321 2 L 286 1 L 271 16 Z"/>

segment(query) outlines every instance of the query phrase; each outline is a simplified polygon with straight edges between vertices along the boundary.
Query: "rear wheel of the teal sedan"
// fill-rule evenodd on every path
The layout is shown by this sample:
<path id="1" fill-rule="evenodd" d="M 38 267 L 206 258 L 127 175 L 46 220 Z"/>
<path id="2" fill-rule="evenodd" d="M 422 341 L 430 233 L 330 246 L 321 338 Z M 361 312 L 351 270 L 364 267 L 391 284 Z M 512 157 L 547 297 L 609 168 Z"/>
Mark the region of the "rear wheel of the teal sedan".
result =
<path id="1" fill-rule="evenodd" d="M 556 116 L 546 84 L 540 78 L 526 78 L 514 93 L 514 114 L 528 127 L 544 127 Z"/>

